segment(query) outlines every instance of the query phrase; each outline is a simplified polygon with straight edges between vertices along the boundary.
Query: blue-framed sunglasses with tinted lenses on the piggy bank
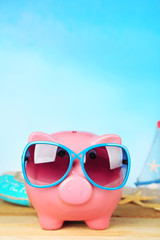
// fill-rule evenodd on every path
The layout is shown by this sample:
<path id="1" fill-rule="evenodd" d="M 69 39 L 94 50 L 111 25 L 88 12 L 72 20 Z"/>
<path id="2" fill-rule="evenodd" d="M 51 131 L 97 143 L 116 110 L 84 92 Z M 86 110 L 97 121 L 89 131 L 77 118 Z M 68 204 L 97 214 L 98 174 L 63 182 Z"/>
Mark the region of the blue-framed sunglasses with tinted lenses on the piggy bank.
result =
<path id="1" fill-rule="evenodd" d="M 130 155 L 123 145 L 102 143 L 75 153 L 54 142 L 30 142 L 22 154 L 25 181 L 32 187 L 48 188 L 62 182 L 79 160 L 86 179 L 105 190 L 122 188 L 130 172 Z M 75 162 L 75 163 L 76 163 Z"/>

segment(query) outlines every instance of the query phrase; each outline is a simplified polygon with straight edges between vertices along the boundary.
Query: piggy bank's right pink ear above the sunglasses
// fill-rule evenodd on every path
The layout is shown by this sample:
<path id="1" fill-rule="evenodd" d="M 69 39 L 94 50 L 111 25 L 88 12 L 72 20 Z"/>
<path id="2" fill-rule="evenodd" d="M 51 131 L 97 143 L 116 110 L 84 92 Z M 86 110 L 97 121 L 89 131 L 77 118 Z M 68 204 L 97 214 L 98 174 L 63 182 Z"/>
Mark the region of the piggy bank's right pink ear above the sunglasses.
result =
<path id="1" fill-rule="evenodd" d="M 105 134 L 102 136 L 96 137 L 94 139 L 93 144 L 100 144 L 100 143 L 117 143 L 121 144 L 121 138 L 115 134 Z"/>

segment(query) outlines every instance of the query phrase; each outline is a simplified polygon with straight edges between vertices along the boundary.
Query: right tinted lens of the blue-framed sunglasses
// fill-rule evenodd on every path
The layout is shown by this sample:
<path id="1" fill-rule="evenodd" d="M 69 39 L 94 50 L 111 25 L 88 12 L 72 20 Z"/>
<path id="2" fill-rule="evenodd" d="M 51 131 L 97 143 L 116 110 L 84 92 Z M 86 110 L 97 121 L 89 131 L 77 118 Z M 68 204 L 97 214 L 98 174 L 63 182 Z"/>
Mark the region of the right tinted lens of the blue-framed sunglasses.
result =
<path id="1" fill-rule="evenodd" d="M 119 187 L 127 175 L 127 153 L 123 148 L 115 146 L 91 149 L 85 154 L 84 168 L 96 184 L 107 188 Z"/>

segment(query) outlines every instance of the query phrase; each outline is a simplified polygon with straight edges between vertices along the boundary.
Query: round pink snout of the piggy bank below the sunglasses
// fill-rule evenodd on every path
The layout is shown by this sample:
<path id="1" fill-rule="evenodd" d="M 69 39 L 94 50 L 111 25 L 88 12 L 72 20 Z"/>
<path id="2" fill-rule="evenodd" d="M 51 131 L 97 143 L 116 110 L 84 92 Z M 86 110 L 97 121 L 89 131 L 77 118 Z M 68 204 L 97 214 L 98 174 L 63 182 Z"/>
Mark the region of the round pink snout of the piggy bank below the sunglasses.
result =
<path id="1" fill-rule="evenodd" d="M 92 196 L 92 185 L 84 178 L 70 176 L 65 179 L 58 189 L 59 197 L 67 204 L 83 204 Z"/>

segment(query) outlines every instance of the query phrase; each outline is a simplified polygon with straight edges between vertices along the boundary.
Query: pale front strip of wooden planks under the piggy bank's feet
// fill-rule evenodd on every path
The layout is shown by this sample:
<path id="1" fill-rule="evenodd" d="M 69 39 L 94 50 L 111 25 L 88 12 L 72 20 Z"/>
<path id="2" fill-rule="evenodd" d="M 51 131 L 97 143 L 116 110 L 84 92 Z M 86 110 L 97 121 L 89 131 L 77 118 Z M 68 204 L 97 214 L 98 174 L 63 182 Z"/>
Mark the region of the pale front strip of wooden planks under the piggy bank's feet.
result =
<path id="1" fill-rule="evenodd" d="M 124 237 L 128 237 L 128 239 L 132 237 L 134 239 L 140 237 L 160 239 L 160 220 L 112 217 L 110 226 L 106 230 L 91 230 L 84 222 L 65 222 L 60 230 L 45 231 L 40 228 L 36 216 L 5 216 L 0 217 L 0 236 L 8 237 L 8 239 L 12 239 L 12 237 L 41 239 L 40 237 L 44 236 L 52 236 L 54 239 L 55 237 L 66 239 L 66 236 L 78 236 L 79 239 L 84 237 L 85 239 L 88 239 L 88 237 L 101 237 L 104 239 L 104 237 L 108 236 L 114 238 L 123 237 L 123 239 Z"/>

